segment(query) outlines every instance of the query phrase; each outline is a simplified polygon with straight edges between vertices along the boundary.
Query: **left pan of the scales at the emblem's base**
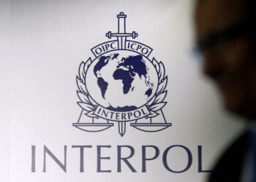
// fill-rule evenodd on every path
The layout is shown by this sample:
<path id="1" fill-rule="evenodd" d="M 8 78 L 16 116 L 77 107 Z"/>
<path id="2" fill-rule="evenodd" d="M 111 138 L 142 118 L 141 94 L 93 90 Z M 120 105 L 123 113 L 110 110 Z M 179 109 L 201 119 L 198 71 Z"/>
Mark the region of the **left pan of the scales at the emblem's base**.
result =
<path id="1" fill-rule="evenodd" d="M 73 123 L 72 125 L 86 132 L 100 132 L 113 127 L 113 123 Z"/>

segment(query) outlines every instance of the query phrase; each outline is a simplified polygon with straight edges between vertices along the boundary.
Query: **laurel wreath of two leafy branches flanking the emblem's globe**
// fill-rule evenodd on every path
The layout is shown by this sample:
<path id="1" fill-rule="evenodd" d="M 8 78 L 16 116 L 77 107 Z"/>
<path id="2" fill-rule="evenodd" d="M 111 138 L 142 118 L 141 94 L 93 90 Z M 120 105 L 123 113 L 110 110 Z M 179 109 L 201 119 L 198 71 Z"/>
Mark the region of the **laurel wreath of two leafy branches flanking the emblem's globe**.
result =
<path id="1" fill-rule="evenodd" d="M 148 114 L 146 117 L 151 118 L 158 116 L 159 114 L 157 111 L 161 110 L 167 102 L 164 102 L 165 97 L 167 95 L 167 76 L 165 76 L 165 66 L 162 62 L 157 62 L 155 58 L 153 58 L 152 63 L 154 67 L 157 69 L 158 74 L 158 88 L 157 92 L 154 95 L 153 98 L 147 103 L 146 107 L 148 108 L 148 111 L 150 111 L 150 114 Z M 91 65 L 91 58 L 86 60 L 86 62 L 80 63 L 79 66 L 79 73 L 76 77 L 77 85 L 78 85 L 78 98 L 80 99 L 80 102 L 78 102 L 78 105 L 83 108 L 84 111 L 86 111 L 86 115 L 90 117 L 97 117 L 94 114 L 94 110 L 99 105 L 96 103 L 91 96 L 89 95 L 88 91 L 86 90 L 86 72 Z"/>

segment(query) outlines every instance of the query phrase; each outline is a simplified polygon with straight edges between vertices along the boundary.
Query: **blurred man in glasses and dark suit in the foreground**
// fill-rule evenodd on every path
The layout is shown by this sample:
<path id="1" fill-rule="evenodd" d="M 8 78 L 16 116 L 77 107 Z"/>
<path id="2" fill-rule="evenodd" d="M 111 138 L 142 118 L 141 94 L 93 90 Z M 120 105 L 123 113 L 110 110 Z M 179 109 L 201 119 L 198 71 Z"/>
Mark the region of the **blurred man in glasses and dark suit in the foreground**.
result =
<path id="1" fill-rule="evenodd" d="M 251 123 L 219 159 L 210 182 L 256 181 L 255 12 L 255 0 L 197 1 L 195 25 L 203 71 L 216 82 L 225 108 Z"/>

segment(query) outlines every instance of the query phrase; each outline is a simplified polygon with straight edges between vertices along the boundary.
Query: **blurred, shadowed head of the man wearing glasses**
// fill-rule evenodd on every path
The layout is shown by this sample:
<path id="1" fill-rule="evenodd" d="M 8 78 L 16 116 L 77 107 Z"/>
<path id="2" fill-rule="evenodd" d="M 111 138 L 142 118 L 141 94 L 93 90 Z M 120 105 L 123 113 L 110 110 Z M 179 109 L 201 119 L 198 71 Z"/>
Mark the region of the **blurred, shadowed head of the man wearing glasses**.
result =
<path id="1" fill-rule="evenodd" d="M 198 0 L 196 35 L 204 73 L 214 79 L 225 107 L 256 119 L 255 0 Z"/>

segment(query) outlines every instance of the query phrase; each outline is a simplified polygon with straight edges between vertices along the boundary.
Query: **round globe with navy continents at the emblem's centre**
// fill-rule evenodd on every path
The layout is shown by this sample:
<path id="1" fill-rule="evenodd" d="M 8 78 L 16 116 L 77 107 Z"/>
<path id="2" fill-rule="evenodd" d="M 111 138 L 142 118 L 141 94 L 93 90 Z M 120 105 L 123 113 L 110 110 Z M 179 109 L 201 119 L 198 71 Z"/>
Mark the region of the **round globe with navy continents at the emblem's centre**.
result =
<path id="1" fill-rule="evenodd" d="M 86 73 L 91 98 L 112 111 L 132 111 L 145 105 L 157 92 L 158 82 L 151 61 L 128 50 L 101 55 Z"/>

